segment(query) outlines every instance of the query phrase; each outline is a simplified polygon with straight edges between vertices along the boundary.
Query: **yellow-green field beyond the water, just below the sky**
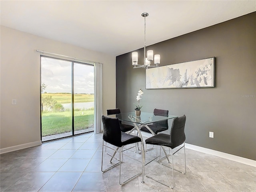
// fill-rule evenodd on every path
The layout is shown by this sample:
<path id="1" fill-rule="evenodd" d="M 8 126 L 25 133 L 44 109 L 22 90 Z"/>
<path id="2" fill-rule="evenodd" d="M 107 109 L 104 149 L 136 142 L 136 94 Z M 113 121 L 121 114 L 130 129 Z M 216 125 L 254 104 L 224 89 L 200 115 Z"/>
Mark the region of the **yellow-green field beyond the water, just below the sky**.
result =
<path id="1" fill-rule="evenodd" d="M 50 95 L 58 103 L 71 103 L 71 94 L 70 93 L 44 93 L 43 95 Z M 93 102 L 94 95 L 88 94 L 74 94 L 74 103 L 82 102 Z"/>

